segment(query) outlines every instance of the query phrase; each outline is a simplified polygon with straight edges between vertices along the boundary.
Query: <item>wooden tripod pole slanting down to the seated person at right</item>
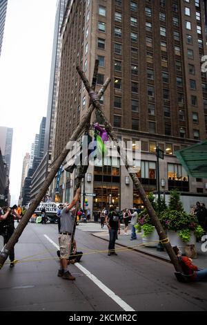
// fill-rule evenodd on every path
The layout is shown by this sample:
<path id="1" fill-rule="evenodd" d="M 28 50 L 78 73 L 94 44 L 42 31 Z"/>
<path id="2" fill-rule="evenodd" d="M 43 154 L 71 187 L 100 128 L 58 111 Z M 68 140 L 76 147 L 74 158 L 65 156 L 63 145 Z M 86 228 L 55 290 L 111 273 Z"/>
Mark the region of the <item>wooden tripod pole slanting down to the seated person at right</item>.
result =
<path id="1" fill-rule="evenodd" d="M 81 77 L 81 80 L 83 80 L 83 84 L 86 86 L 86 90 L 88 91 L 88 94 L 94 104 L 94 106 L 97 109 L 97 112 L 99 113 L 99 115 L 101 116 L 101 119 L 103 120 L 103 124 L 106 128 L 106 131 L 108 131 L 108 134 L 110 136 L 110 138 L 116 142 L 117 144 L 117 150 L 119 152 L 119 156 L 120 158 L 123 160 L 123 162 L 126 162 L 126 169 L 129 169 L 131 166 L 128 165 L 128 161 L 127 158 L 124 156 L 124 154 L 121 154 L 121 150 L 119 147 L 119 143 L 117 142 L 117 136 L 115 134 L 115 131 L 113 131 L 112 129 L 112 125 L 110 124 L 110 122 L 108 121 L 108 119 L 106 118 L 106 115 L 103 113 L 102 109 L 101 109 L 101 105 L 99 104 L 99 100 L 97 100 L 95 98 L 95 94 L 93 93 L 90 84 L 86 78 L 85 73 L 83 73 L 83 71 L 81 70 L 81 68 L 79 68 L 79 66 L 77 66 L 77 71 Z M 141 183 L 139 182 L 139 178 L 137 177 L 137 175 L 135 173 L 131 173 L 129 172 L 130 177 L 132 178 L 132 182 L 135 185 L 135 188 L 137 189 L 137 191 L 139 192 L 139 195 L 141 197 L 141 200 L 144 203 L 144 206 L 146 207 L 146 210 L 148 211 L 148 214 L 150 216 L 150 219 L 152 220 L 152 223 L 155 225 L 155 228 L 157 230 L 157 233 L 159 234 L 159 239 L 162 241 L 164 248 L 166 249 L 166 252 L 168 253 L 170 260 L 172 261 L 173 266 L 175 267 L 175 270 L 177 272 L 181 272 L 181 268 L 179 266 L 179 263 L 177 261 L 177 257 L 175 255 L 175 252 L 172 250 L 172 246 L 170 245 L 170 241 L 168 241 L 166 239 L 166 232 L 164 231 L 164 229 L 161 226 L 161 223 L 159 222 L 159 219 L 157 218 L 157 215 L 155 213 L 155 210 L 153 209 L 148 197 L 146 196 L 146 193 L 144 191 L 144 188 L 142 187 Z"/>

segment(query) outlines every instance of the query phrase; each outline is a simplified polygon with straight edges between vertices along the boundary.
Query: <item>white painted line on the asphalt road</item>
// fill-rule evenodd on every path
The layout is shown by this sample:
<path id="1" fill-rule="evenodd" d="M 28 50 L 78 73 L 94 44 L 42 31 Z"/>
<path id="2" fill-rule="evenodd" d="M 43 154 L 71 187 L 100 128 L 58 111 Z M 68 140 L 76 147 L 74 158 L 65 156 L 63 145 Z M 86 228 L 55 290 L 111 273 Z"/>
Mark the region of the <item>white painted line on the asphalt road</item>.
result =
<path id="1" fill-rule="evenodd" d="M 48 237 L 46 234 L 44 234 L 44 236 L 46 237 L 46 239 L 48 239 L 48 241 L 50 241 L 50 243 L 52 243 L 52 245 L 55 246 L 55 248 L 59 249 L 59 245 L 52 241 L 50 237 Z M 92 275 L 90 271 L 88 271 L 86 268 L 83 268 L 80 263 L 75 263 L 75 266 L 77 266 L 77 268 L 79 268 L 79 270 L 81 270 L 86 275 L 86 277 L 88 277 L 92 282 L 94 282 L 103 291 L 103 293 L 106 293 L 106 295 L 108 295 L 108 297 L 114 300 L 124 311 L 135 311 L 135 309 L 126 304 L 124 300 L 122 300 L 112 290 L 110 290 L 110 288 L 105 286 L 105 284 L 103 284 L 99 279 L 97 279 L 95 275 Z"/>

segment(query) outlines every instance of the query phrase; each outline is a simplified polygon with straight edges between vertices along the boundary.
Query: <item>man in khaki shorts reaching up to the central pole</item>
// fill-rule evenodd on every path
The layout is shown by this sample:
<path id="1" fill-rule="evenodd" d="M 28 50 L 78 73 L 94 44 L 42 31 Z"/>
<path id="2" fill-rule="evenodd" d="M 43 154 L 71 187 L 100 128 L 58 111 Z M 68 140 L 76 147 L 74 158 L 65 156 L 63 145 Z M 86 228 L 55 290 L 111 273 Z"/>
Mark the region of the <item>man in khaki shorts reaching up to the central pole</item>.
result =
<path id="1" fill-rule="evenodd" d="M 66 280 L 75 280 L 68 271 L 68 257 L 70 256 L 70 241 L 72 235 L 72 226 L 75 220 L 75 208 L 72 210 L 79 201 L 81 189 L 77 192 L 70 204 L 64 203 L 63 210 L 60 214 L 60 230 L 59 230 L 59 250 L 60 250 L 60 269 L 57 276 Z"/>

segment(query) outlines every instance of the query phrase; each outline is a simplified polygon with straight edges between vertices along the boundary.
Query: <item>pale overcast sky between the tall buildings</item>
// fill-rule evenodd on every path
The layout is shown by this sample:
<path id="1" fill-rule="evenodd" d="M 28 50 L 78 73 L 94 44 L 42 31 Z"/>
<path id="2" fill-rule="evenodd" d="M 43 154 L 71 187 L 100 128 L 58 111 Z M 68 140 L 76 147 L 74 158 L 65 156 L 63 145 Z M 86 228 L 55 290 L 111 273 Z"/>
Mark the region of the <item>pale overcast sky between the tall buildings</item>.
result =
<path id="1" fill-rule="evenodd" d="M 47 112 L 56 4 L 8 0 L 0 56 L 0 126 L 13 128 L 12 203 L 19 198 L 23 157 Z"/>

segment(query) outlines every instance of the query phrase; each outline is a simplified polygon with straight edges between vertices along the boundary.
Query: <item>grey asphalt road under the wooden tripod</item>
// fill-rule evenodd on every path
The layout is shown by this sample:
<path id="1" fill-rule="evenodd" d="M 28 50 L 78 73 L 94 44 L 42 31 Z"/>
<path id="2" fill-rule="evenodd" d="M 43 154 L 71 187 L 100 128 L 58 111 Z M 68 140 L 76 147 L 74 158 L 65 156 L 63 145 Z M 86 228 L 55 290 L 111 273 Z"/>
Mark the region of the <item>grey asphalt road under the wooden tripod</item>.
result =
<path id="1" fill-rule="evenodd" d="M 181 284 L 170 263 L 120 246 L 108 257 L 108 242 L 91 232 L 77 229 L 84 254 L 68 281 L 57 277 L 57 225 L 29 223 L 15 246 L 21 263 L 0 270 L 0 311 L 207 310 L 207 282 Z"/>

